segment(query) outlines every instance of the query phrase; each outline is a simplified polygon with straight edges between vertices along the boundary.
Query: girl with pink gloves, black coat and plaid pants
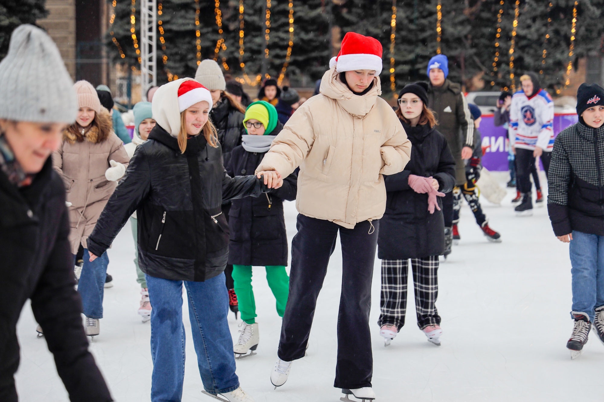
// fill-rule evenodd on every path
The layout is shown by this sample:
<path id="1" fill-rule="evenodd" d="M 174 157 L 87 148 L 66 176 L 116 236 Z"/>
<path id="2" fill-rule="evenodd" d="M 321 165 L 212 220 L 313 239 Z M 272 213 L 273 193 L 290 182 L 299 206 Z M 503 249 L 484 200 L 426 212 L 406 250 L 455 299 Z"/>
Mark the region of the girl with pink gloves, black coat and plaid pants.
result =
<path id="1" fill-rule="evenodd" d="M 415 282 L 417 325 L 440 345 L 439 255 L 445 249 L 442 201 L 455 185 L 455 160 L 445 137 L 435 128 L 428 85 L 405 86 L 399 94 L 400 121 L 411 141 L 411 161 L 400 173 L 385 176 L 386 211 L 380 220 L 377 256 L 382 259 L 382 299 L 378 324 L 390 345 L 405 324 L 408 260 Z"/>

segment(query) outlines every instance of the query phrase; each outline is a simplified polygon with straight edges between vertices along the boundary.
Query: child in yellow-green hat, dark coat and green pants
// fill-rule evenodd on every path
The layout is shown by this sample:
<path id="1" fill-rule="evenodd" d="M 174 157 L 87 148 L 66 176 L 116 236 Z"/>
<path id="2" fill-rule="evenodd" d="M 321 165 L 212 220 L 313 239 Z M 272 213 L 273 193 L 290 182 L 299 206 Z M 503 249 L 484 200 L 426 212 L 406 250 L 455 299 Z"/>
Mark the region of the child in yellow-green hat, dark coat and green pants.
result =
<path id="1" fill-rule="evenodd" d="M 248 106 L 243 119 L 248 135 L 243 144 L 233 149 L 226 167 L 231 176 L 254 172 L 272 140 L 283 129 L 278 121 L 277 110 L 266 101 Z M 235 293 L 243 329 L 234 345 L 238 357 L 251 356 L 258 346 L 258 323 L 255 322 L 254 291 L 252 290 L 252 266 L 266 268 L 266 280 L 277 299 L 277 313 L 283 317 L 288 301 L 289 276 L 288 238 L 283 216 L 283 200 L 296 198 L 298 176 L 292 173 L 283 180 L 283 186 L 264 197 L 233 200 L 229 212 L 230 244 L 229 264 L 233 264 Z M 249 354 L 248 351 L 251 351 Z"/>

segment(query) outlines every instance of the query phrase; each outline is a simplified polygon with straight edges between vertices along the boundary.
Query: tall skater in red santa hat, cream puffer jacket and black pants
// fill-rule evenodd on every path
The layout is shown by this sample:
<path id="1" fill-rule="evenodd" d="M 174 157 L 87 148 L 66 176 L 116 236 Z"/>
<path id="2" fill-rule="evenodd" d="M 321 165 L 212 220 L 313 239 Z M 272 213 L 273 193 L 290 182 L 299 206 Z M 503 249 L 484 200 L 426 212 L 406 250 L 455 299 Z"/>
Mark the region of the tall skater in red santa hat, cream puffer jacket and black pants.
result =
<path id="1" fill-rule="evenodd" d="M 343 272 L 334 386 L 357 398 L 374 398 L 368 319 L 378 220 L 386 206 L 382 175 L 403 170 L 411 143 L 392 108 L 378 97 L 382 46 L 376 39 L 347 33 L 330 64 L 320 94 L 294 112 L 257 168 L 266 179 L 280 180 L 300 166 L 298 233 L 271 381 L 283 385 L 292 360 L 304 357 L 339 232 Z"/>

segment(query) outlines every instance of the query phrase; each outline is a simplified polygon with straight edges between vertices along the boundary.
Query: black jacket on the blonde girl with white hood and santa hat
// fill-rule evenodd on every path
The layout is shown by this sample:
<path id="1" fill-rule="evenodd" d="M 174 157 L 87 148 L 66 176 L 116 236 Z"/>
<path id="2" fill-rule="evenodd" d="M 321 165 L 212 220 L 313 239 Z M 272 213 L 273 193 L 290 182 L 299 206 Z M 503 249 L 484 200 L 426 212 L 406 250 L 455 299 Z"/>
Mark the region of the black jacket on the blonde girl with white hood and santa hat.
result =
<path id="1" fill-rule="evenodd" d="M 181 154 L 176 138 L 156 125 L 130 159 L 88 238 L 88 249 L 103 254 L 137 211 L 141 270 L 173 281 L 205 281 L 226 265 L 228 223 L 222 201 L 257 197 L 263 187 L 255 176 L 229 177 L 220 145 L 211 147 L 203 135 L 188 139 Z"/>

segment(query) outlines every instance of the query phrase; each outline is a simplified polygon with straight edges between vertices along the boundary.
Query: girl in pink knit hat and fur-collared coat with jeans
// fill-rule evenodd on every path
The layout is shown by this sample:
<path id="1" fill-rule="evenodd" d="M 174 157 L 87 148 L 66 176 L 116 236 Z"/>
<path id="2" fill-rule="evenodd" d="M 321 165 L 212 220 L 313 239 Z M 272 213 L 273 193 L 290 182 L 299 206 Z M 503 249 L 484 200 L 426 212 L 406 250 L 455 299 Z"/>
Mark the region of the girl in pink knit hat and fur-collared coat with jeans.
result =
<path id="1" fill-rule="evenodd" d="M 78 282 L 86 315 L 86 334 L 98 335 L 103 317 L 103 290 L 109 258 L 105 253 L 89 261 L 86 240 L 109 197 L 124 175 L 129 158 L 121 139 L 112 130 L 111 116 L 101 106 L 88 81 L 74 85 L 78 98 L 76 123 L 63 131 L 63 142 L 53 152 L 53 167 L 65 182 L 69 205 L 69 241 L 76 255 L 84 248 L 84 265 Z"/>

